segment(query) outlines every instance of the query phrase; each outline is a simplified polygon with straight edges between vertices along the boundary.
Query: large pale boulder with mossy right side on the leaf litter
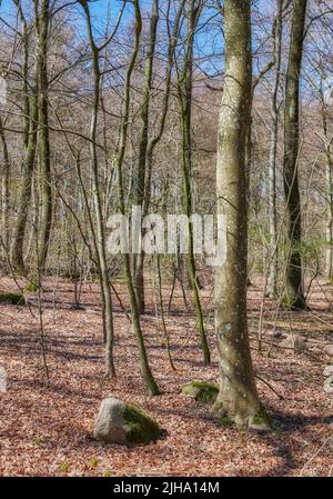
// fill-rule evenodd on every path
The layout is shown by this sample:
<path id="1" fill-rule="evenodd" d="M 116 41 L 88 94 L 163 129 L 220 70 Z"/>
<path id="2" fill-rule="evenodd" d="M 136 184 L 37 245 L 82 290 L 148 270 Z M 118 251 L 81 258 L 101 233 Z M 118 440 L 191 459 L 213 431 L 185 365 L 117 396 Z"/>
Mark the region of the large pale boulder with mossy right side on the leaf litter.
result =
<path id="1" fill-rule="evenodd" d="M 115 398 L 103 399 L 93 437 L 108 443 L 133 446 L 157 441 L 161 428 L 144 410 Z"/>

